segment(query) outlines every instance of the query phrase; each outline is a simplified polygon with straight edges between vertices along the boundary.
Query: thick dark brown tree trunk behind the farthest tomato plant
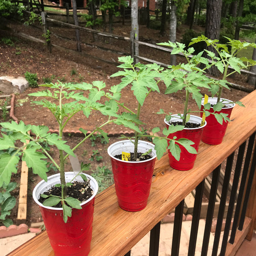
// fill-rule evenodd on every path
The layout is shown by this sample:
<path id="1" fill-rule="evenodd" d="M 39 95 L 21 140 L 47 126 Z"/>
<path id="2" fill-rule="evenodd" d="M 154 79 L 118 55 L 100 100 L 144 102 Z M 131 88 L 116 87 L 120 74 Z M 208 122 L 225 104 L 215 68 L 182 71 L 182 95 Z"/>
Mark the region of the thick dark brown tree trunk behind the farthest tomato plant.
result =
<path id="1" fill-rule="evenodd" d="M 207 0 L 205 36 L 210 39 L 219 39 L 221 7 L 222 0 Z M 215 52 L 214 49 L 208 47 L 207 49 Z M 219 72 L 214 66 L 214 68 L 208 70 L 208 73 L 218 76 Z"/>

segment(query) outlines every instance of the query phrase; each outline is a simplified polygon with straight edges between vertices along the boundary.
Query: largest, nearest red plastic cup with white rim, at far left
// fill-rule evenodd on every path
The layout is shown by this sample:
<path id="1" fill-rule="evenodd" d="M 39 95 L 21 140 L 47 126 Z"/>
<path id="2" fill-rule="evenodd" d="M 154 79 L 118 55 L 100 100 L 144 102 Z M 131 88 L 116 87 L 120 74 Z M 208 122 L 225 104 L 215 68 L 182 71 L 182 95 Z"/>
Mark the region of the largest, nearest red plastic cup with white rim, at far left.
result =
<path id="1" fill-rule="evenodd" d="M 65 176 L 70 176 L 68 173 L 66 172 Z M 73 172 L 70 173 L 73 177 Z M 90 252 L 92 240 L 94 199 L 98 191 L 98 184 L 91 176 L 86 174 L 91 179 L 90 183 L 93 186 L 94 195 L 80 204 L 82 209 L 73 208 L 72 217 L 68 217 L 67 223 L 65 223 L 62 208 L 45 207 L 37 200 L 41 193 L 46 191 L 53 183 L 56 184 L 56 182 L 52 182 L 53 176 L 57 176 L 57 179 L 60 177 L 59 174 L 50 176 L 47 185 L 45 181 L 42 181 L 37 184 L 33 191 L 33 198 L 39 205 L 51 247 L 55 256 L 87 256 Z M 67 177 L 66 180 L 68 180 Z M 60 183 L 60 180 L 57 183 Z"/>

